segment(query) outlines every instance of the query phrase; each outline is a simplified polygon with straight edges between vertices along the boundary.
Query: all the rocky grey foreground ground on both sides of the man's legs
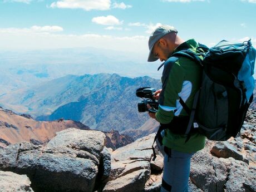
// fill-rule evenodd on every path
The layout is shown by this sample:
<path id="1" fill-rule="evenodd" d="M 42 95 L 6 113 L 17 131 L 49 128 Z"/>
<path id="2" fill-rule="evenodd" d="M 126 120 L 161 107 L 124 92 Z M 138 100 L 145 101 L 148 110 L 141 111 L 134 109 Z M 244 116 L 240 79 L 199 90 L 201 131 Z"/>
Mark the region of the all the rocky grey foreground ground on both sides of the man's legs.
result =
<path id="1" fill-rule="evenodd" d="M 191 160 L 189 191 L 256 191 L 255 120 L 249 110 L 238 137 L 206 141 Z M 160 191 L 163 156 L 152 161 L 154 136 L 113 151 L 102 132 L 70 128 L 46 146 L 9 145 L 0 149 L 0 191 Z"/>

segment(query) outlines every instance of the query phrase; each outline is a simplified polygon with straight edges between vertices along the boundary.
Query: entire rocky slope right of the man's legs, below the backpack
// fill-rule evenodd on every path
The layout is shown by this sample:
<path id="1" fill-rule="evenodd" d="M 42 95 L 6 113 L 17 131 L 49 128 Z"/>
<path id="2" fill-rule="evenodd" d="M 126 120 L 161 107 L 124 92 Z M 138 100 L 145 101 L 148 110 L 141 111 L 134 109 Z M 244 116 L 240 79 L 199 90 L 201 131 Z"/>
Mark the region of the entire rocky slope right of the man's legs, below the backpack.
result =
<path id="1" fill-rule="evenodd" d="M 191 160 L 191 181 L 203 191 L 256 191 L 254 110 L 249 110 L 240 136 L 207 141 Z"/>

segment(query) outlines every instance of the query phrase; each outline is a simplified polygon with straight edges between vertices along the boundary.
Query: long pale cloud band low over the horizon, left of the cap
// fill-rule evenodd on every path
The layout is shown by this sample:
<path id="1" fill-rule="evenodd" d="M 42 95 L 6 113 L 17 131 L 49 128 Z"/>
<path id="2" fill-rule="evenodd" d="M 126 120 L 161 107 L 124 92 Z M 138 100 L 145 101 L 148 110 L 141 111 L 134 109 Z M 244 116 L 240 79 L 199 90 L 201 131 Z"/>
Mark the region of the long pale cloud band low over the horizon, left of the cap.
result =
<path id="1" fill-rule="evenodd" d="M 0 28 L 0 50 L 43 50 L 97 47 L 141 53 L 147 56 L 147 36 L 110 36 L 98 34 L 65 35 L 41 33 L 32 28 Z"/>

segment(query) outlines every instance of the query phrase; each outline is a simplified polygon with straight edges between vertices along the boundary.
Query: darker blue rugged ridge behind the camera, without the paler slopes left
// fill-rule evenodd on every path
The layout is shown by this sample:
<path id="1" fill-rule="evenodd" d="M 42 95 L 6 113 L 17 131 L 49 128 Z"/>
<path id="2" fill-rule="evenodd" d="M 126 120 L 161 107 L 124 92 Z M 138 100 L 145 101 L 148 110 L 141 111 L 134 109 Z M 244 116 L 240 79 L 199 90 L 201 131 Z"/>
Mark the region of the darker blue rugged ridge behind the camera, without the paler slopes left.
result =
<path id="1" fill-rule="evenodd" d="M 137 111 L 137 102 L 141 100 L 135 96 L 135 91 L 144 86 L 160 88 L 161 85 L 159 80 L 150 77 L 128 78 L 113 74 L 96 91 L 59 107 L 48 120 L 73 119 L 103 131 L 136 129 L 149 119 L 147 113 Z"/>

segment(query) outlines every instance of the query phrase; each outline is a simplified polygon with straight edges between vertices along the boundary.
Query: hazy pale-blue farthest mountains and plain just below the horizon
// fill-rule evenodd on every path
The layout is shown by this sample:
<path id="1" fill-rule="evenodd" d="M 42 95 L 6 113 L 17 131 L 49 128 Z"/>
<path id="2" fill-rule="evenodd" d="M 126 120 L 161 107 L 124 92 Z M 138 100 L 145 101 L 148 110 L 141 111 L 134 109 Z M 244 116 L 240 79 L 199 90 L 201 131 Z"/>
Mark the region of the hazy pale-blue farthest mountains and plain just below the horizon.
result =
<path id="1" fill-rule="evenodd" d="M 118 73 L 121 76 L 149 75 L 160 78 L 159 63 L 147 63 L 140 53 L 101 48 L 63 48 L 0 52 L 0 95 L 31 87 L 66 75 Z"/>

